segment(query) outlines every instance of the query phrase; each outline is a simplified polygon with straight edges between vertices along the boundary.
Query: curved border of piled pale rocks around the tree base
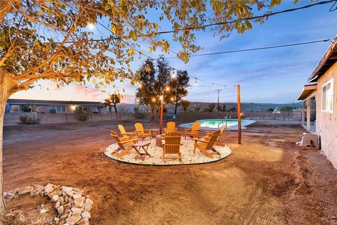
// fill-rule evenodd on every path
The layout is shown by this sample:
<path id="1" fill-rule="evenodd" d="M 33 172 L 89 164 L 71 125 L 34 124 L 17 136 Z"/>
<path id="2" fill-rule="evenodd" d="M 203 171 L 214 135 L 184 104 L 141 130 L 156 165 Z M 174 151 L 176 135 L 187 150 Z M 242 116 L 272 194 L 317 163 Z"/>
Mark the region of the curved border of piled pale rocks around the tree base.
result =
<path id="1" fill-rule="evenodd" d="M 93 200 L 83 195 L 79 189 L 54 184 L 47 184 L 46 186 L 34 184 L 4 192 L 4 199 L 6 203 L 9 203 L 13 198 L 19 198 L 20 195 L 27 193 L 32 197 L 45 196 L 52 203 L 55 203 L 55 210 L 58 212 L 58 217 L 54 217 L 55 224 L 89 224 Z"/>

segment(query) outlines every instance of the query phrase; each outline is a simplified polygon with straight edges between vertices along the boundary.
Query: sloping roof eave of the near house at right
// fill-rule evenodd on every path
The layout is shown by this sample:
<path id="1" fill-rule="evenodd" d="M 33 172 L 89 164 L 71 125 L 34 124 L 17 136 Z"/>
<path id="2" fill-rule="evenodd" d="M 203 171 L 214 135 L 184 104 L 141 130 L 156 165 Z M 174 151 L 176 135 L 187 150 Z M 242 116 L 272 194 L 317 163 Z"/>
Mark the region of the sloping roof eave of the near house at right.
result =
<path id="1" fill-rule="evenodd" d="M 337 62 L 337 35 L 331 41 L 329 48 L 324 53 L 324 56 L 319 60 L 314 71 L 308 78 L 308 82 L 317 82 L 319 77 L 322 77 L 324 73 L 331 68 L 333 64 Z"/>

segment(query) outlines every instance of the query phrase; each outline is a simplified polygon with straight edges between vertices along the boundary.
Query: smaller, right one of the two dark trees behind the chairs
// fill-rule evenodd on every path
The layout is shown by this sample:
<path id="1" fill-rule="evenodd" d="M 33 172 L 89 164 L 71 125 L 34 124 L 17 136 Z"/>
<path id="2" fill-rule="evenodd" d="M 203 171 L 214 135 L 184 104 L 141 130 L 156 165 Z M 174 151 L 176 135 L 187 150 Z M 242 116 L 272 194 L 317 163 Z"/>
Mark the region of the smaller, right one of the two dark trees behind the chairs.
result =
<path id="1" fill-rule="evenodd" d="M 171 94 L 175 99 L 174 114 L 177 114 L 178 105 L 182 104 L 181 99 L 187 96 L 187 87 L 190 86 L 188 82 L 190 82 L 190 77 L 188 77 L 187 71 L 178 70 L 176 77 L 173 77 L 169 83 Z"/>

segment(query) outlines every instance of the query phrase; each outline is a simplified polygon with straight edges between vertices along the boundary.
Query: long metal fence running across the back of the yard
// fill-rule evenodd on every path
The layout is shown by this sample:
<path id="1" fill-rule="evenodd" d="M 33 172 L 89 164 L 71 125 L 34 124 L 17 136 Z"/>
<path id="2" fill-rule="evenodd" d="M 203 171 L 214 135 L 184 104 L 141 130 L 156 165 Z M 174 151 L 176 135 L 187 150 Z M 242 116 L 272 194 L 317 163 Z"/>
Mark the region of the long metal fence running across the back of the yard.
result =
<path id="1" fill-rule="evenodd" d="M 168 113 L 170 114 L 170 113 Z M 57 124 L 57 123 L 73 123 L 81 122 L 77 113 L 6 113 L 4 126 L 15 126 L 20 124 L 20 117 L 27 116 L 32 119 L 39 118 L 40 124 Z M 227 117 L 228 119 L 237 119 L 237 113 L 180 113 L 178 114 L 178 121 L 194 121 L 203 119 L 220 119 Z M 281 113 L 267 113 L 267 112 L 250 112 L 244 113 L 244 119 L 251 120 L 301 120 L 300 111 L 295 112 L 281 112 Z M 156 115 L 156 120 L 158 119 Z M 171 117 L 166 117 L 166 120 L 172 120 Z M 136 120 L 135 113 L 91 113 L 88 115 L 88 122 L 97 121 L 127 121 Z M 145 120 L 150 120 L 150 114 L 145 113 Z"/>

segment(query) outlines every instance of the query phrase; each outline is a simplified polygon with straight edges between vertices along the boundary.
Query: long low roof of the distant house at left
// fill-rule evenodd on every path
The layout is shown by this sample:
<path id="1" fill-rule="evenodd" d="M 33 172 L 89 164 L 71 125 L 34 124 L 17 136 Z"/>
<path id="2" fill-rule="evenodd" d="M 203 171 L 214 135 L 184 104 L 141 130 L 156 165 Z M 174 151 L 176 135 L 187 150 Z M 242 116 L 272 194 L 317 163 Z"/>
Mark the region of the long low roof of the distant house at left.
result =
<path id="1" fill-rule="evenodd" d="M 100 105 L 99 101 L 55 101 L 55 100 L 34 100 L 10 98 L 8 104 L 18 105 Z"/>

